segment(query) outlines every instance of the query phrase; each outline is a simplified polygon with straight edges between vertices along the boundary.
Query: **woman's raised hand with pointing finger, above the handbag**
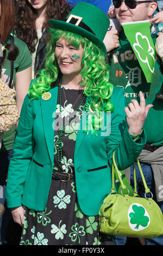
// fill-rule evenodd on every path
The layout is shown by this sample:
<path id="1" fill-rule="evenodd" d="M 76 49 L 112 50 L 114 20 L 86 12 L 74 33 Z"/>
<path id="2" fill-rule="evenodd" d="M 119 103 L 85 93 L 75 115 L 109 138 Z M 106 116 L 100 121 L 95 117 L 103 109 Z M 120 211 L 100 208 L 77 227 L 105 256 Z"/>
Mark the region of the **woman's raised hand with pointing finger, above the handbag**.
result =
<path id="1" fill-rule="evenodd" d="M 146 106 L 146 100 L 142 92 L 139 93 L 140 105 L 137 100 L 131 100 L 124 111 L 127 115 L 128 131 L 131 135 L 139 135 L 145 123 L 148 111 L 152 104 Z"/>

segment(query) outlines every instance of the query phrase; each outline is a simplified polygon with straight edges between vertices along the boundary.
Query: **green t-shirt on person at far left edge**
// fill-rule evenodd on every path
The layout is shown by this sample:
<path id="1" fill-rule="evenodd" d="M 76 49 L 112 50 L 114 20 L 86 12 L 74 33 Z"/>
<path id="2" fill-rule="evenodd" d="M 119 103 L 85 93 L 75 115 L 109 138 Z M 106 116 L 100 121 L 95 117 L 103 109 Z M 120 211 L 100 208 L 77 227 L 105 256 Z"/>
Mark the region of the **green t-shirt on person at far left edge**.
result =
<path id="1" fill-rule="evenodd" d="M 10 42 L 10 38 L 6 42 Z M 14 62 L 14 75 L 11 84 L 11 88 L 15 86 L 15 74 L 24 69 L 29 68 L 32 65 L 32 57 L 28 50 L 26 44 L 20 39 L 14 36 L 14 44 L 17 46 L 19 50 L 19 54 Z M 5 59 L 2 74 L 4 77 L 4 81 L 8 84 L 10 79 L 10 61 Z M 2 148 L 1 151 L 9 150 L 13 148 L 14 140 L 15 140 L 16 126 L 12 127 L 9 131 L 4 132 L 4 136 L 2 139 Z"/>

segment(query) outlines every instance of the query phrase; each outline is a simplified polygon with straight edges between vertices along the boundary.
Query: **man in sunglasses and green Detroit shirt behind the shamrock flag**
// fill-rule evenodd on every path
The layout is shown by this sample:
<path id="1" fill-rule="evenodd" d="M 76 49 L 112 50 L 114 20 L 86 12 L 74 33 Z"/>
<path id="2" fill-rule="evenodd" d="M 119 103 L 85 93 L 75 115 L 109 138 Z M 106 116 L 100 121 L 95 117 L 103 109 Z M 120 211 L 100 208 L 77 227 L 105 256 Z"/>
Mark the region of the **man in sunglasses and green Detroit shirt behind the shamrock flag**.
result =
<path id="1" fill-rule="evenodd" d="M 151 20 L 157 4 L 154 1 L 135 1 L 135 0 L 114 0 L 114 11 L 116 19 L 121 23 Z M 140 24 L 140 26 L 142 26 Z M 110 32 L 108 32 L 110 33 Z M 115 41 L 117 35 L 114 35 Z M 152 104 L 153 107 L 148 113 L 145 121 L 145 131 L 147 135 L 147 144 L 139 156 L 141 167 L 148 187 L 153 193 L 153 199 L 159 204 L 163 211 L 163 161 L 160 156 L 163 155 L 163 100 L 156 98 L 163 83 L 163 75 L 160 66 L 163 62 L 163 33 L 159 33 L 153 38 L 155 44 L 156 55 L 154 78 L 152 83 L 147 83 L 145 75 L 140 67 L 140 64 L 129 44 L 124 31 L 119 33 L 118 45 L 112 56 L 110 63 L 110 82 L 115 86 L 124 88 L 126 106 L 130 109 L 136 106 L 136 101 L 139 101 L 139 92 L 142 91 L 146 98 L 146 104 Z M 107 44 L 106 48 L 110 47 Z M 131 101 L 131 103 L 129 103 Z M 137 190 L 141 197 L 145 196 L 145 191 L 142 190 L 139 169 L 136 167 Z M 134 184 L 133 170 L 130 168 L 131 186 Z M 162 180 L 161 180 L 162 179 Z M 118 241 L 118 240 L 117 240 Z M 117 242 L 116 241 L 116 242 Z M 126 240 L 119 240 L 118 245 L 124 245 Z M 163 235 L 154 239 L 146 239 L 146 245 L 163 245 Z"/>

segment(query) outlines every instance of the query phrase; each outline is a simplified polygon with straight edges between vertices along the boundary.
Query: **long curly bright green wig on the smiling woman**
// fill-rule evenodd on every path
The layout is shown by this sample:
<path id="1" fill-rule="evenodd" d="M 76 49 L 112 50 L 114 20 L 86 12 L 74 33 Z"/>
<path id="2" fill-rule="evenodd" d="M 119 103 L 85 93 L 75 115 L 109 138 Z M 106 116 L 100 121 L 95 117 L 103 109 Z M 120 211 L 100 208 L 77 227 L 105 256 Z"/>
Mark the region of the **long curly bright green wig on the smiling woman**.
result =
<path id="1" fill-rule="evenodd" d="M 91 97 L 91 108 L 93 111 L 113 111 L 110 97 L 113 85 L 109 83 L 109 65 L 105 63 L 105 55 L 90 40 L 83 36 L 69 31 L 49 28 L 51 35 L 47 44 L 47 56 L 45 69 L 42 69 L 40 76 L 32 83 L 29 89 L 31 99 L 39 99 L 39 96 L 51 88 L 51 83 L 57 80 L 60 69 L 55 57 L 55 43 L 60 38 L 76 48 L 80 45 L 84 48 L 82 58 L 82 83 L 84 93 Z"/>

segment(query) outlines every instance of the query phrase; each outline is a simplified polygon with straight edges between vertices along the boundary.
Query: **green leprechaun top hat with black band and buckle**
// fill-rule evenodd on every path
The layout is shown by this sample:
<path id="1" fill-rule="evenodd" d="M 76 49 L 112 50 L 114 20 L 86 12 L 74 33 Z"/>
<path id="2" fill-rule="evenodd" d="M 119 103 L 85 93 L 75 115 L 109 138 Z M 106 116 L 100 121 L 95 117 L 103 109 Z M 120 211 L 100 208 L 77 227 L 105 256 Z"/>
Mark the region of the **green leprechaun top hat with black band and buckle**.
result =
<path id="1" fill-rule="evenodd" d="M 79 2 L 71 10 L 66 21 L 49 20 L 53 28 L 82 35 L 101 48 L 106 54 L 103 39 L 110 25 L 108 16 L 95 5 Z"/>

